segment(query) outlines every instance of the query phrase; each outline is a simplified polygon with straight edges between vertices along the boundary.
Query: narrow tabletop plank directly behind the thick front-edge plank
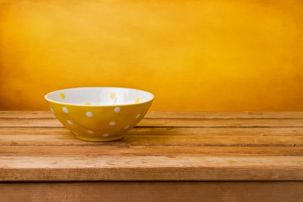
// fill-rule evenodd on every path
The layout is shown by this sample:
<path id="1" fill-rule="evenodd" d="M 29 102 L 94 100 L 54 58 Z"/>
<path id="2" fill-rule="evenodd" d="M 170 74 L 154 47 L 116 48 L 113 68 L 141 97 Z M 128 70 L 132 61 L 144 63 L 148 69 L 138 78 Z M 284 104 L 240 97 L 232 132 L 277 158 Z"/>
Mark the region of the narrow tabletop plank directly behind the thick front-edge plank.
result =
<path id="1" fill-rule="evenodd" d="M 98 157 L 98 156 L 157 156 L 157 157 L 266 157 L 303 156 L 301 146 L 0 146 L 1 157 Z"/>

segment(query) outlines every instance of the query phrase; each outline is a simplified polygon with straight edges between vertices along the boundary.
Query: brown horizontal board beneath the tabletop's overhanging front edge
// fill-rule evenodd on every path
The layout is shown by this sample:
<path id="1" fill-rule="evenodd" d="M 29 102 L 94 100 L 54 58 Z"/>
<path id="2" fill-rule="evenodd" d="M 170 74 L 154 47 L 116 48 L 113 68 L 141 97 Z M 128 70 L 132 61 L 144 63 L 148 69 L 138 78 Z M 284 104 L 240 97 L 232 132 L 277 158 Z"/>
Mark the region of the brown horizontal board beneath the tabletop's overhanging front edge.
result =
<path id="1" fill-rule="evenodd" d="M 300 202 L 303 182 L 1 183 L 0 201 Z"/>

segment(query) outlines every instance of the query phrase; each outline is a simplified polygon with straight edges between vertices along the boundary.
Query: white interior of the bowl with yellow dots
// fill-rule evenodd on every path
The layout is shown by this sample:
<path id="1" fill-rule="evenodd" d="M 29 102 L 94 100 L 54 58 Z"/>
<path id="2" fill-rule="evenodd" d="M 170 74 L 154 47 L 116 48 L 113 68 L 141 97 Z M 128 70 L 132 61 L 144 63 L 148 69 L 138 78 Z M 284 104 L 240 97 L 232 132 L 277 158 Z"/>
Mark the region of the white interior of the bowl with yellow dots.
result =
<path id="1" fill-rule="evenodd" d="M 73 105 L 112 106 L 145 103 L 153 99 L 150 92 L 119 87 L 82 87 L 50 92 L 45 99 Z"/>

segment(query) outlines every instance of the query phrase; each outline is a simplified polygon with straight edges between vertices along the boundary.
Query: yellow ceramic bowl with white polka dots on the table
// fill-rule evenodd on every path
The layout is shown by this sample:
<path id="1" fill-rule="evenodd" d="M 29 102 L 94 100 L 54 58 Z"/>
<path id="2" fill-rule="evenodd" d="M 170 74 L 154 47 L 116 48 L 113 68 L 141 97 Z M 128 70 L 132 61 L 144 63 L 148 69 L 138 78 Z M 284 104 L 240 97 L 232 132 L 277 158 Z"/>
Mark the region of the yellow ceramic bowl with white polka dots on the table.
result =
<path id="1" fill-rule="evenodd" d="M 154 95 L 119 87 L 82 87 L 50 92 L 47 105 L 76 137 L 86 141 L 121 139 L 145 116 Z"/>

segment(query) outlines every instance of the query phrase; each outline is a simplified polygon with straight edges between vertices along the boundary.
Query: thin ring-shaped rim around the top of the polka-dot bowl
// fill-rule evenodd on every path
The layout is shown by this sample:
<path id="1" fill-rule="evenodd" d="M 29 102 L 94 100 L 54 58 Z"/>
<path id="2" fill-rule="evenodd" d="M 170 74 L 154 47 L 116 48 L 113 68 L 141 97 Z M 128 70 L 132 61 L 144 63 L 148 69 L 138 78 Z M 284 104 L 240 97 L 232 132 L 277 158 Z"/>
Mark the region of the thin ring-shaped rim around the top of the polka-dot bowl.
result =
<path id="1" fill-rule="evenodd" d="M 80 104 L 71 104 L 71 103 L 63 103 L 63 102 L 58 102 L 58 101 L 55 101 L 55 100 L 52 100 L 52 99 L 49 99 L 47 97 L 47 95 L 51 94 L 51 93 L 54 93 L 54 92 L 60 92 L 62 90 L 70 90 L 70 89 L 76 89 L 76 88 L 122 88 L 122 89 L 130 89 L 130 90 L 139 90 L 139 91 L 142 91 L 142 92 L 147 92 L 149 94 L 151 94 L 153 97 L 145 102 L 142 102 L 142 103 L 132 103 L 132 104 L 118 104 L 118 105 L 80 105 Z M 65 89 L 60 89 L 60 90 L 55 90 L 55 91 L 52 91 L 52 92 L 48 92 L 47 94 L 44 95 L 44 98 L 48 101 L 48 102 L 51 102 L 51 103 L 57 103 L 57 104 L 61 104 L 61 105 L 68 105 L 68 106 L 83 106 L 83 107 L 119 107 L 119 106 L 133 106 L 133 105 L 142 105 L 142 104 L 145 104 L 145 103 L 149 103 L 149 102 L 152 102 L 155 98 L 155 95 L 151 92 L 148 92 L 148 91 L 145 91 L 145 90 L 140 90 L 140 89 L 135 89 L 135 88 L 125 88 L 125 87 L 107 87 L 107 86 L 93 86 L 93 87 L 75 87 L 75 88 L 65 88 Z"/>

